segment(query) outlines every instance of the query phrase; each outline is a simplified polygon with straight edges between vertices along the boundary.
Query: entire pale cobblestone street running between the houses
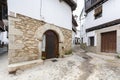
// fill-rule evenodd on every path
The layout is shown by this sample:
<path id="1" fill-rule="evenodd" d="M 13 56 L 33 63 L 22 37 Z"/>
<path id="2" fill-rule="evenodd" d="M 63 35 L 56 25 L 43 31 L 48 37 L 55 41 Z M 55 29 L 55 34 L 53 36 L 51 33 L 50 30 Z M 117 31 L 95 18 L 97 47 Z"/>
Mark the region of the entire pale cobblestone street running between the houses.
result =
<path id="1" fill-rule="evenodd" d="M 39 66 L 15 74 L 7 74 L 7 54 L 0 58 L 0 80 L 120 80 L 119 59 L 85 52 L 79 46 L 71 55 L 45 60 Z"/>

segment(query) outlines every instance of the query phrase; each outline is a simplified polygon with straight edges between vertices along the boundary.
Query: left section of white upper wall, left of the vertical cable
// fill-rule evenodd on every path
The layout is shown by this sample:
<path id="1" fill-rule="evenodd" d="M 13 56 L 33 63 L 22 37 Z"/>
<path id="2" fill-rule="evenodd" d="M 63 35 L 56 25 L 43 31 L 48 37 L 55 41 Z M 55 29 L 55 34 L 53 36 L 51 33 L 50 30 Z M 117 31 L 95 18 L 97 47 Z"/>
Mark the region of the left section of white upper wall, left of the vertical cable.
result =
<path id="1" fill-rule="evenodd" d="M 8 0 L 8 10 L 40 19 L 40 0 Z"/>

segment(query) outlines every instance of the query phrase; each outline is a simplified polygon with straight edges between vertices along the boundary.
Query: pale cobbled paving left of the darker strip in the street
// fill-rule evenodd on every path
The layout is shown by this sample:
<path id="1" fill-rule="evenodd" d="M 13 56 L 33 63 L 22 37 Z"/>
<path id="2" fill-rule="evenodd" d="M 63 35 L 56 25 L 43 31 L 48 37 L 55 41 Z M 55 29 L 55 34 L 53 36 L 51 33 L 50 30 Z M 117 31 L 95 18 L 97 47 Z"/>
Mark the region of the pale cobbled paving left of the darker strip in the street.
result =
<path id="1" fill-rule="evenodd" d="M 18 70 L 15 74 L 7 75 L 7 78 L 1 77 L 0 80 L 78 80 L 83 74 L 80 70 L 82 62 L 84 59 L 77 55 L 49 59 L 43 65 L 25 71 Z"/>

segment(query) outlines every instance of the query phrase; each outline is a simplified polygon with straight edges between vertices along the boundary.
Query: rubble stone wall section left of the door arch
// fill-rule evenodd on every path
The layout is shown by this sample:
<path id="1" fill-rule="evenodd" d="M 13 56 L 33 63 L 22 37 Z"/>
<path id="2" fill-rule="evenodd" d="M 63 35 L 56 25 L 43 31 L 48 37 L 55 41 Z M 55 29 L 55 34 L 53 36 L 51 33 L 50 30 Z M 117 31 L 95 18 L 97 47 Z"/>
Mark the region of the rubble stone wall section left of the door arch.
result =
<path id="1" fill-rule="evenodd" d="M 9 17 L 9 63 L 38 59 L 38 41 L 35 31 L 45 23 L 17 14 Z"/>

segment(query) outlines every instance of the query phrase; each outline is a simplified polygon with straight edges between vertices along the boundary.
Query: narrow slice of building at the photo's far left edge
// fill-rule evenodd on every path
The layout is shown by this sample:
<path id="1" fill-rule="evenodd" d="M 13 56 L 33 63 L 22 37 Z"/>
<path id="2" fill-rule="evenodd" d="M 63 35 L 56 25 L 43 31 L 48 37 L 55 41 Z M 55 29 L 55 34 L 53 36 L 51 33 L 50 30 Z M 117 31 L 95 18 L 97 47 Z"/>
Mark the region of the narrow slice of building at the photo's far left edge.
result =
<path id="1" fill-rule="evenodd" d="M 7 0 L 0 1 L 0 46 L 8 43 L 8 14 L 7 14 Z"/>

